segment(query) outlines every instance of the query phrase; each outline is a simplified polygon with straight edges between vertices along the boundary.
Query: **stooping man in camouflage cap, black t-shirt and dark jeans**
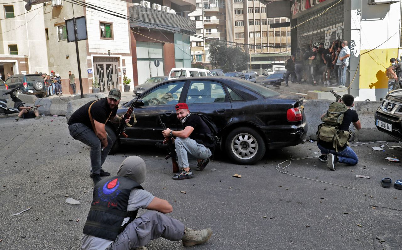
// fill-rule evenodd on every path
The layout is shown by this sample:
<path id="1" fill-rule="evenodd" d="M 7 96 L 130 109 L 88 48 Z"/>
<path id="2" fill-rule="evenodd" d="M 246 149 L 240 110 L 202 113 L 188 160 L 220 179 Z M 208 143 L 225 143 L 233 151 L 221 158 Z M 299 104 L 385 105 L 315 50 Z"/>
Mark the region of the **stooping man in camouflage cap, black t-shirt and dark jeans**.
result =
<path id="1" fill-rule="evenodd" d="M 102 165 L 113 145 L 107 136 L 105 124 L 108 120 L 118 123 L 121 117 L 117 116 L 121 93 L 119 89 L 111 89 L 107 98 L 101 98 L 84 104 L 76 110 L 68 120 L 68 130 L 72 138 L 91 147 L 91 173 L 90 177 L 96 184 L 101 176 L 109 176 L 103 171 Z M 126 119 L 125 122 L 129 122 Z"/>

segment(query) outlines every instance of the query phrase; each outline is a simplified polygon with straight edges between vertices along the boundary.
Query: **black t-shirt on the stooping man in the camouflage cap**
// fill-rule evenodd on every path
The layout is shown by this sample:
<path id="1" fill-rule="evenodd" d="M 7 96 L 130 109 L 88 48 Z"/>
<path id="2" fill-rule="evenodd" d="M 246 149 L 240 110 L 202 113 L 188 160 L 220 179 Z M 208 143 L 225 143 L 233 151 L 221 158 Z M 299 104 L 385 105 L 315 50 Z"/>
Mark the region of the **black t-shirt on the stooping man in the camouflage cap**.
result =
<path id="1" fill-rule="evenodd" d="M 109 118 L 110 112 L 112 112 L 110 117 L 116 116 L 117 107 L 114 108 L 113 110 L 111 110 L 109 108 L 109 104 L 107 104 L 107 97 L 105 97 L 102 99 L 88 102 L 87 104 L 85 104 L 84 106 L 82 106 L 81 108 L 76 110 L 70 117 L 70 120 L 68 120 L 67 124 L 71 125 L 73 123 L 82 123 L 85 126 L 87 126 L 88 128 L 93 130 L 92 124 L 91 124 L 91 121 L 90 121 L 89 115 L 88 115 L 88 108 L 93 102 L 95 102 L 95 103 L 94 103 L 94 105 L 91 106 L 92 119 L 94 119 L 100 123 L 106 123 L 107 118 Z"/>

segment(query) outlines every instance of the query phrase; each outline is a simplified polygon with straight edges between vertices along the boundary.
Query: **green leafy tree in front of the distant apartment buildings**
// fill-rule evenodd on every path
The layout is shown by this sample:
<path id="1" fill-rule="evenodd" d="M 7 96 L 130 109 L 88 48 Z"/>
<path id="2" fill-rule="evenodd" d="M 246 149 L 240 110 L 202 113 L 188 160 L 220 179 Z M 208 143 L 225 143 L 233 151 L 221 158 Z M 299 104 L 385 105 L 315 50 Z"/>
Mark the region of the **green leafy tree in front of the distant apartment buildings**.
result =
<path id="1" fill-rule="evenodd" d="M 240 47 L 228 47 L 219 42 L 209 43 L 209 61 L 214 68 L 222 68 L 225 72 L 247 69 L 249 56 Z"/>

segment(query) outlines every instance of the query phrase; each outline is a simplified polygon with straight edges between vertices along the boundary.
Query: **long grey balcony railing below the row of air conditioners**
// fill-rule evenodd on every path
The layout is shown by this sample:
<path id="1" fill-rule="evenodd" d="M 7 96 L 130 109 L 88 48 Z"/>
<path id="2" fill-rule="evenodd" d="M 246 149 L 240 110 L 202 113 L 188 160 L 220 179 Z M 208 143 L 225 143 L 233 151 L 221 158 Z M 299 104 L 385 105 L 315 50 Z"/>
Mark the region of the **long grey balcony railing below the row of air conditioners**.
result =
<path id="1" fill-rule="evenodd" d="M 195 34 L 195 21 L 176 14 L 142 6 L 129 7 L 130 27 L 166 28 L 177 32 Z"/>

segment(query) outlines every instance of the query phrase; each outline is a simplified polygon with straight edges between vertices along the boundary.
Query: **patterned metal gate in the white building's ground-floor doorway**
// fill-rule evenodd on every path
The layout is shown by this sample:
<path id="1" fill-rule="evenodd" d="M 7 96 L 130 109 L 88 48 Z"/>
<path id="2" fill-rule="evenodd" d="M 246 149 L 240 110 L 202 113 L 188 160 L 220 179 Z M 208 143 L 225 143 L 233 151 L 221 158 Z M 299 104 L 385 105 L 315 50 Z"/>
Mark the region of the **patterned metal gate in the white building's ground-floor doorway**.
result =
<path id="1" fill-rule="evenodd" d="M 98 78 L 100 92 L 109 92 L 117 88 L 118 60 L 116 57 L 94 57 L 95 77 Z"/>

